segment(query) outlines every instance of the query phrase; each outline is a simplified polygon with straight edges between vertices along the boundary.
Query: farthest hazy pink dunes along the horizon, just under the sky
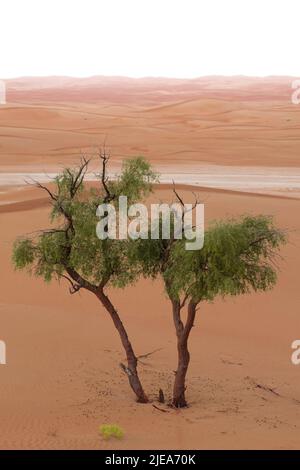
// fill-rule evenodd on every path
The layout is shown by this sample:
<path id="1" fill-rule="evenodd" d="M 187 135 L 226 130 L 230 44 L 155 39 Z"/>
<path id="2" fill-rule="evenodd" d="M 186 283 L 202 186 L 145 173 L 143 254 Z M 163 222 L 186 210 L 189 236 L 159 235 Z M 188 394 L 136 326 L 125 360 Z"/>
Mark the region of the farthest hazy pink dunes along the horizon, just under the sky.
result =
<path id="1" fill-rule="evenodd" d="M 45 101 L 160 102 L 194 98 L 285 100 L 292 77 L 201 77 L 196 79 L 126 77 L 25 77 L 7 80 L 8 99 Z"/>

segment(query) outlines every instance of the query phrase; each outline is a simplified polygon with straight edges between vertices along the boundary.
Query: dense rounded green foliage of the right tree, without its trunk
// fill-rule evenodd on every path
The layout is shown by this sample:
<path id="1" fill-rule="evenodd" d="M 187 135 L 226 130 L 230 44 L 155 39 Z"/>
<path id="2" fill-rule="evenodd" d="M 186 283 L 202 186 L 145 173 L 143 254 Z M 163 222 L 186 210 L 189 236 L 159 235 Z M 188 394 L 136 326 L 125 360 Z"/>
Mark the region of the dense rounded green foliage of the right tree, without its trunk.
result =
<path id="1" fill-rule="evenodd" d="M 276 250 L 284 241 L 266 216 L 218 222 L 206 231 L 202 250 L 175 244 L 164 272 L 170 295 L 188 293 L 198 302 L 265 291 L 276 283 Z"/>

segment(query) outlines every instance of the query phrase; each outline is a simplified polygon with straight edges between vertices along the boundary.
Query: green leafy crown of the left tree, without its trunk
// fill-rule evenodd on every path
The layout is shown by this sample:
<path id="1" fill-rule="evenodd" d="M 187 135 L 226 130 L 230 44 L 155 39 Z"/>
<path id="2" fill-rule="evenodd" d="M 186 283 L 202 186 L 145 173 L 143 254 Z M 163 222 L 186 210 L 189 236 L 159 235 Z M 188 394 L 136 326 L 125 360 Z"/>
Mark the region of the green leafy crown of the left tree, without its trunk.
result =
<path id="1" fill-rule="evenodd" d="M 36 238 L 17 240 L 12 256 L 14 266 L 28 268 L 47 282 L 53 277 L 60 279 L 71 268 L 93 285 L 124 287 L 138 276 L 137 267 L 127 256 L 129 241 L 99 240 L 96 209 L 104 201 L 105 190 L 101 183 L 98 190 L 86 188 L 84 175 L 82 169 L 65 169 L 55 178 L 51 220 L 60 225 Z M 127 160 L 120 177 L 107 181 L 115 196 L 112 203 L 117 206 L 120 194 L 131 202 L 140 200 L 149 194 L 156 178 L 141 157 Z"/>

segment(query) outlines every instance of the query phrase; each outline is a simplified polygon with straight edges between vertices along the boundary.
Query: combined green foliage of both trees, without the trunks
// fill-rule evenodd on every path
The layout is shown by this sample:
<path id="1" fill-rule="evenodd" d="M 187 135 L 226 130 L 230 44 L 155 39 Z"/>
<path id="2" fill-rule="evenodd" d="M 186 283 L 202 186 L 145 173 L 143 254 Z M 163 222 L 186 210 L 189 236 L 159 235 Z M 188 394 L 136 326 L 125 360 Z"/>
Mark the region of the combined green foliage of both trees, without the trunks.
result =
<path id="1" fill-rule="evenodd" d="M 118 210 L 119 195 L 126 195 L 129 203 L 140 201 L 151 192 L 157 175 L 140 157 L 127 160 L 119 178 L 106 180 L 106 187 L 87 189 L 84 175 L 82 168 L 66 169 L 55 179 L 52 219 L 62 223 L 34 239 L 17 240 L 12 257 L 16 269 L 28 268 L 45 281 L 60 279 L 72 269 L 93 286 L 117 287 L 140 275 L 161 275 L 172 299 L 183 296 L 196 303 L 265 291 L 275 284 L 276 256 L 285 236 L 271 218 L 217 222 L 206 230 L 204 247 L 195 251 L 185 249 L 185 239 L 99 240 L 96 209 L 107 190 Z"/>

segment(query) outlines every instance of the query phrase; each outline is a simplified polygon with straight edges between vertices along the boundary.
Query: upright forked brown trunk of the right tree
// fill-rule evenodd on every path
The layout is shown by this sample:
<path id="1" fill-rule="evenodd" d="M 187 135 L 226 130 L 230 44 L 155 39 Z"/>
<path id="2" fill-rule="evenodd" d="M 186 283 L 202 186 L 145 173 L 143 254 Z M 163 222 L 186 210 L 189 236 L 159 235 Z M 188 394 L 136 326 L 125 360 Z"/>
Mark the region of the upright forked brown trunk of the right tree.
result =
<path id="1" fill-rule="evenodd" d="M 180 317 L 180 303 L 179 301 L 172 301 L 173 307 L 173 320 L 177 335 L 177 353 L 178 353 L 178 364 L 175 373 L 175 381 L 173 386 L 173 406 L 176 408 L 183 408 L 187 406 L 185 398 L 185 379 L 190 362 L 190 353 L 188 350 L 188 339 L 191 329 L 194 325 L 194 319 L 196 315 L 196 304 L 190 302 L 188 305 L 188 315 L 186 324 Z"/>

